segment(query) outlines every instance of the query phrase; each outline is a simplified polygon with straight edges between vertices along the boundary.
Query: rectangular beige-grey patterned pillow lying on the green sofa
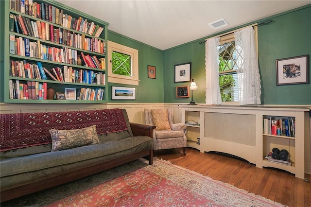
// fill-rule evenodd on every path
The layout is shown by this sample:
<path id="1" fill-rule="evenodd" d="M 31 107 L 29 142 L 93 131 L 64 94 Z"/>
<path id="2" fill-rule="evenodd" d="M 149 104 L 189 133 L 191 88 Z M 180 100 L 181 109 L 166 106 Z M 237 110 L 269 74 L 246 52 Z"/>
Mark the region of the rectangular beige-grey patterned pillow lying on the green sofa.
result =
<path id="1" fill-rule="evenodd" d="M 96 125 L 71 130 L 51 129 L 49 132 L 52 136 L 52 152 L 99 143 Z"/>

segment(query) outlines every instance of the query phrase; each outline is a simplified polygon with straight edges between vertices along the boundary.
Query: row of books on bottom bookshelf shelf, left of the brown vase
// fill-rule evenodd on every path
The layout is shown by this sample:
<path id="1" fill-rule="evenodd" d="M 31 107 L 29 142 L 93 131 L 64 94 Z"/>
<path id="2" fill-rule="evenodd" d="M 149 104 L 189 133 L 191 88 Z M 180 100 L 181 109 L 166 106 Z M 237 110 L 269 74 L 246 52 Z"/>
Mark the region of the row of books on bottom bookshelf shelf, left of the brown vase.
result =
<path id="1" fill-rule="evenodd" d="M 47 83 L 27 81 L 20 83 L 19 80 L 9 80 L 10 99 L 47 99 Z"/>

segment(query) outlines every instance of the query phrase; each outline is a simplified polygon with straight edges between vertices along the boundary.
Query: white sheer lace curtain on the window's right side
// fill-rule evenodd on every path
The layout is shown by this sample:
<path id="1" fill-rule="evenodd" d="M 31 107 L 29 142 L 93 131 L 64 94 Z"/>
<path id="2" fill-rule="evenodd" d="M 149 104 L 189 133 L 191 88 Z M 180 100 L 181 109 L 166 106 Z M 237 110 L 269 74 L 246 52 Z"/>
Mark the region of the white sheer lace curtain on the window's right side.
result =
<path id="1" fill-rule="evenodd" d="M 239 104 L 260 104 L 260 76 L 253 27 L 234 33 L 237 56 Z"/>

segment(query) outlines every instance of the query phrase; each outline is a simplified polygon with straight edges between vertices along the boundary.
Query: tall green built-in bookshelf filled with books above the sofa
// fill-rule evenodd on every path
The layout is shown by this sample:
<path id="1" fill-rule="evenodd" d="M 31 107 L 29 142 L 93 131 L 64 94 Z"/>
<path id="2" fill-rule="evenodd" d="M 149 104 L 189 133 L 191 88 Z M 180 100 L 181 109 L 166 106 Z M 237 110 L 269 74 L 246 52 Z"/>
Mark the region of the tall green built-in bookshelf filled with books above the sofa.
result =
<path id="1" fill-rule="evenodd" d="M 5 1 L 5 19 L 5 103 L 107 101 L 108 23 L 51 0 Z M 76 100 L 57 100 L 66 88 Z"/>

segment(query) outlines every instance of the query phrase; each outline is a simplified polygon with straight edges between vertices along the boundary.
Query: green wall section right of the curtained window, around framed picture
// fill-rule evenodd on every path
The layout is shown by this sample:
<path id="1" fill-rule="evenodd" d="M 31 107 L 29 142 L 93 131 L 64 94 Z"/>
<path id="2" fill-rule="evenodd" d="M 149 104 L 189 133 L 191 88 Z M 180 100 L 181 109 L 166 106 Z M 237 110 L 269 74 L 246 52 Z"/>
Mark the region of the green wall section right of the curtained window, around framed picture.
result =
<path id="1" fill-rule="evenodd" d="M 311 104 L 311 83 L 276 86 L 276 59 L 309 54 L 311 74 L 311 4 L 299 11 L 271 18 L 258 29 L 262 104 Z"/>

